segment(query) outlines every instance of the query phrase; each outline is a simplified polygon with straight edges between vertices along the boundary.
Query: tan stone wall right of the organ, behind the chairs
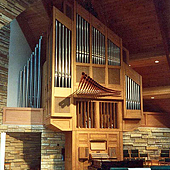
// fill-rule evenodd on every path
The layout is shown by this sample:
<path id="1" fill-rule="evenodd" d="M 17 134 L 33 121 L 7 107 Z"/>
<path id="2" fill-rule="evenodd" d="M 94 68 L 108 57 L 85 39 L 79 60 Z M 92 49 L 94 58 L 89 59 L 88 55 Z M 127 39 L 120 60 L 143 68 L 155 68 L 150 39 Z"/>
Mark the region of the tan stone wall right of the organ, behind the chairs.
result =
<path id="1" fill-rule="evenodd" d="M 123 149 L 138 149 L 149 159 L 159 159 L 161 149 L 170 149 L 170 128 L 139 127 L 123 133 Z"/>

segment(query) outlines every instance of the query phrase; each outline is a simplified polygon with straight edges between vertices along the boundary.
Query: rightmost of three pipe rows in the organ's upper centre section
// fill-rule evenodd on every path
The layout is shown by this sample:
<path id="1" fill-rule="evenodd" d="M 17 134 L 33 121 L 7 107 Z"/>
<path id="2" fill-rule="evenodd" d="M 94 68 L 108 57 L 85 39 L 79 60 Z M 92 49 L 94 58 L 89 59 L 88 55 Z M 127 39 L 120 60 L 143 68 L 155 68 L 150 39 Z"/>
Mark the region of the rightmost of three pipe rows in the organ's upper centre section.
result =
<path id="1" fill-rule="evenodd" d="M 120 66 L 120 48 L 111 40 L 107 40 L 108 65 Z"/>

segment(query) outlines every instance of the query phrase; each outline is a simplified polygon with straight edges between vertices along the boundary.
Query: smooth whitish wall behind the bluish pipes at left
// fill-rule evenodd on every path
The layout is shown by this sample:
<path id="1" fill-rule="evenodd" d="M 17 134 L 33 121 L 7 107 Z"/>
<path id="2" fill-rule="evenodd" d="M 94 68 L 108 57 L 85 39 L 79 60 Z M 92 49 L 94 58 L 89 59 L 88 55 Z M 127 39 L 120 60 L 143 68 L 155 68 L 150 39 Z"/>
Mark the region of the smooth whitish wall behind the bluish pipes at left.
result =
<path id="1" fill-rule="evenodd" d="M 7 107 L 17 107 L 19 71 L 30 57 L 31 49 L 16 19 L 11 22 L 10 30 Z"/>

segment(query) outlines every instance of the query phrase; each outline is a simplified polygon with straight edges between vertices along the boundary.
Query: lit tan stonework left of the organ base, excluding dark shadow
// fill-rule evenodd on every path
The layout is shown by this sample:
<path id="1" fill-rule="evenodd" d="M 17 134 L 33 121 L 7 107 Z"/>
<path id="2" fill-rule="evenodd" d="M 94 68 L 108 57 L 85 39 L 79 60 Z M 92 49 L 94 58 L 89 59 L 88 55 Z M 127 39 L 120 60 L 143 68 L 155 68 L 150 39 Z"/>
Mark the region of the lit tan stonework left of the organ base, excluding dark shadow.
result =
<path id="1" fill-rule="evenodd" d="M 7 162 L 11 162 L 11 169 L 12 170 L 26 170 L 28 161 L 26 157 L 24 157 L 25 153 L 24 150 L 27 149 L 27 145 L 23 145 L 22 140 L 8 140 L 11 136 L 18 134 L 25 135 L 27 133 L 32 133 L 33 136 L 35 133 L 41 133 L 40 144 L 41 144 L 41 170 L 63 170 L 64 161 L 62 160 L 62 148 L 65 146 L 65 135 L 60 132 L 54 132 L 52 130 L 46 129 L 44 126 L 41 125 L 1 125 L 0 126 L 0 133 L 7 132 L 7 140 L 6 140 L 6 155 L 5 159 Z M 37 145 L 37 143 L 35 143 Z M 10 147 L 9 147 L 10 146 Z M 13 146 L 13 147 L 11 147 Z M 32 145 L 33 146 L 33 145 Z M 15 149 L 17 148 L 17 149 Z M 22 158 L 14 157 L 14 154 L 18 150 Z M 14 154 L 9 154 L 13 152 Z M 34 155 L 34 150 L 32 152 Z M 8 168 L 8 166 L 7 166 Z M 28 168 L 30 169 L 30 168 Z"/>

